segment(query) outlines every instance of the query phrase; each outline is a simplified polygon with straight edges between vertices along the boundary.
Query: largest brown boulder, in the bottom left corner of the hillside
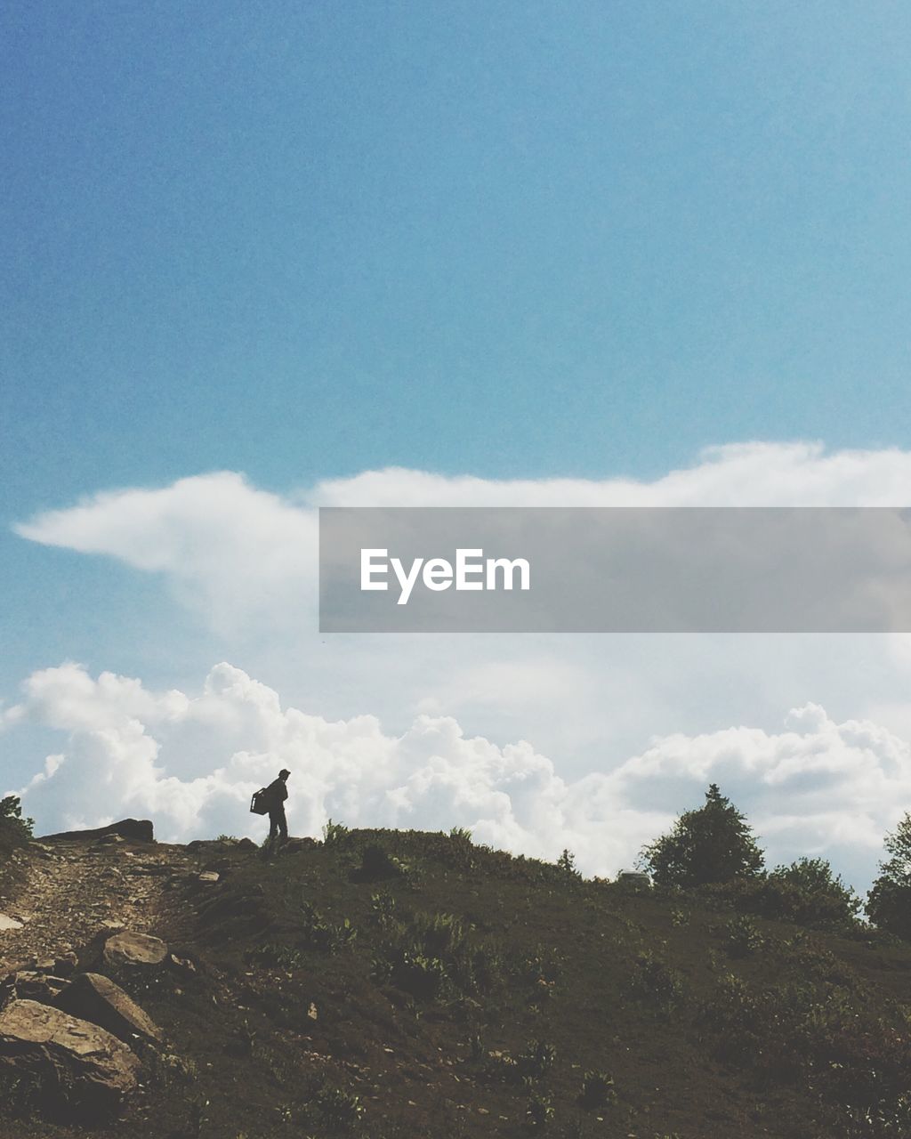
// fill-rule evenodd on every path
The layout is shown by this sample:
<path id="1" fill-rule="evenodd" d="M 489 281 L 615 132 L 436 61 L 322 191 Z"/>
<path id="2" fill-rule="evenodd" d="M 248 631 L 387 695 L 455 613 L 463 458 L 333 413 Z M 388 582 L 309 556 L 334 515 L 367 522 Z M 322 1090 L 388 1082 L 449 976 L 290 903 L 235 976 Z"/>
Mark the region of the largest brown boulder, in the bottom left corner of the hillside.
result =
<path id="1" fill-rule="evenodd" d="M 36 1075 L 49 1099 L 88 1116 L 117 1112 L 139 1060 L 112 1033 L 61 1009 L 15 1000 L 0 1013 L 0 1071 Z"/>

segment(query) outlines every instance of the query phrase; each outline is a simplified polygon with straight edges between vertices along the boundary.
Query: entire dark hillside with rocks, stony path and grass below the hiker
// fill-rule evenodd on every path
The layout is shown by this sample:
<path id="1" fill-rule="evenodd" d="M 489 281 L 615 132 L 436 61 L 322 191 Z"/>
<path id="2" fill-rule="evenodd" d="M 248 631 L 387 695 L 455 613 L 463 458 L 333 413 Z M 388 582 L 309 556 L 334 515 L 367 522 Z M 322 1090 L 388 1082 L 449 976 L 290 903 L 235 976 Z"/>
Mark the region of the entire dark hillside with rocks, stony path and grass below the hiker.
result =
<path id="1" fill-rule="evenodd" d="M 911 1134 L 911 947 L 862 925 L 465 833 L 147 826 L 0 855 L 3 1139 Z"/>

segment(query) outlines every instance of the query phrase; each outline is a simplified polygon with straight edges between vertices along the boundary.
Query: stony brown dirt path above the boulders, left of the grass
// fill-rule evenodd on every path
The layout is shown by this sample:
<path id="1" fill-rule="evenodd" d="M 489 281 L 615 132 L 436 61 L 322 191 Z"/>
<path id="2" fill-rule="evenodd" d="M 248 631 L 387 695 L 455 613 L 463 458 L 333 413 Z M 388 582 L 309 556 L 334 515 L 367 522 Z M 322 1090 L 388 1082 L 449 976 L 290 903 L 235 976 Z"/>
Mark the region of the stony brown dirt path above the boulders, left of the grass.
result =
<path id="1" fill-rule="evenodd" d="M 99 844 L 64 838 L 30 843 L 15 858 L 24 876 L 0 913 L 23 923 L 0 929 L 0 975 L 30 958 L 56 958 L 85 944 L 106 923 L 155 933 L 177 878 L 196 872 L 181 846 Z"/>

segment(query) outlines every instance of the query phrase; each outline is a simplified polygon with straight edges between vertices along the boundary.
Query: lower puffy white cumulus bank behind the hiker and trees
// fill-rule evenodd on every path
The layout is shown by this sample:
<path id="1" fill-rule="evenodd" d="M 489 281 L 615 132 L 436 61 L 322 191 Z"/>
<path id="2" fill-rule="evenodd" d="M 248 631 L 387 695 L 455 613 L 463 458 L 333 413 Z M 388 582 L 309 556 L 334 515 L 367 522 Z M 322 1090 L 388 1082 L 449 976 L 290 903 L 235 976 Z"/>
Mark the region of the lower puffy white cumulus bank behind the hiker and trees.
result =
<path id="1" fill-rule="evenodd" d="M 452 716 L 421 714 L 401 735 L 376 716 L 329 721 L 222 663 L 192 695 L 76 664 L 34 673 L 6 713 L 66 738 L 19 788 L 44 830 L 150 817 L 161 838 L 222 831 L 262 837 L 252 793 L 292 770 L 289 821 L 318 835 L 350 826 L 469 827 L 477 841 L 547 859 L 568 846 L 589 874 L 632 863 L 642 843 L 717 781 L 747 810 L 772 861 L 831 854 L 865 880 L 911 801 L 911 748 L 869 721 L 834 722 L 819 705 L 780 732 L 731 727 L 654 738 L 613 771 L 575 780 L 530 743 L 468 737 Z M 865 878 L 864 878 L 865 876 Z"/>

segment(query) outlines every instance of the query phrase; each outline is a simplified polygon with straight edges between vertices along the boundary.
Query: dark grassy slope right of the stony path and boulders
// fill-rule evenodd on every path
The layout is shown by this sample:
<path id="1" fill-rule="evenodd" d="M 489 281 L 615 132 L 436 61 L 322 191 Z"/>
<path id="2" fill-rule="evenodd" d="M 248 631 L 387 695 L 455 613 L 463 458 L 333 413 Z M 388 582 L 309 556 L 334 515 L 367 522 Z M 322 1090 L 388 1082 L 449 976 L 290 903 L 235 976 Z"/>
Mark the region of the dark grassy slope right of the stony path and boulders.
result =
<path id="1" fill-rule="evenodd" d="M 894 939 L 720 891 L 631 893 L 459 833 L 208 857 L 215 893 L 188 879 L 159 931 L 196 970 L 124 981 L 179 1065 L 147 1059 L 96 1139 L 911 1133 Z"/>

